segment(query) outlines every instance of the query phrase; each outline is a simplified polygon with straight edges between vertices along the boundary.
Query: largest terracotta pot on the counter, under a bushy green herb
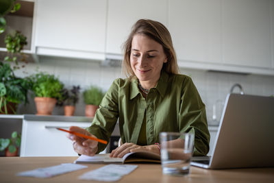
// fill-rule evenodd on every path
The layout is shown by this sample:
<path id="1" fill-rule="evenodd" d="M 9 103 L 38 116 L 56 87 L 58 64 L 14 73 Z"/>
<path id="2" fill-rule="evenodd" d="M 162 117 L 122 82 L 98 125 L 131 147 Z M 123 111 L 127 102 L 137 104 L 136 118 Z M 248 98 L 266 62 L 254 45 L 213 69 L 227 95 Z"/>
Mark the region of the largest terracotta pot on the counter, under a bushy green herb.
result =
<path id="1" fill-rule="evenodd" d="M 35 97 L 34 101 L 36 103 L 36 115 L 51 115 L 57 100 L 49 97 Z"/>

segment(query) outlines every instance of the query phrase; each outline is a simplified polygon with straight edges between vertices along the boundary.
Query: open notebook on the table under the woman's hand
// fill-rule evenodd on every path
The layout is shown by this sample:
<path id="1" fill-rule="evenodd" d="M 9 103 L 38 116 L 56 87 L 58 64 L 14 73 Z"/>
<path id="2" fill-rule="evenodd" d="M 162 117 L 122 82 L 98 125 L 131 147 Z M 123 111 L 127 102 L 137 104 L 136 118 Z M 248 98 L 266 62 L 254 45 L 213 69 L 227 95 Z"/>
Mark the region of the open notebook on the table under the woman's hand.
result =
<path id="1" fill-rule="evenodd" d="M 74 163 L 120 163 L 127 162 L 152 162 L 161 163 L 160 155 L 147 151 L 128 153 L 123 158 L 110 158 L 110 154 L 96 154 L 95 156 L 81 155 Z"/>

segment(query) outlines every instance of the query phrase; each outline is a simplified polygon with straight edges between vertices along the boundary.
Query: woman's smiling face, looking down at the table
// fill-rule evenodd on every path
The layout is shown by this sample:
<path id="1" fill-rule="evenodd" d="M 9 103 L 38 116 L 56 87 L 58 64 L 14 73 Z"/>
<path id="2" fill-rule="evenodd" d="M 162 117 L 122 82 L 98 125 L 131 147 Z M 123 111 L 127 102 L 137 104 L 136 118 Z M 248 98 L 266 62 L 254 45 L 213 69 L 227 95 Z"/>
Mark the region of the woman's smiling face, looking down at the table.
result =
<path id="1" fill-rule="evenodd" d="M 132 38 L 130 65 L 140 82 L 156 84 L 166 62 L 164 49 L 158 42 L 141 34 Z"/>

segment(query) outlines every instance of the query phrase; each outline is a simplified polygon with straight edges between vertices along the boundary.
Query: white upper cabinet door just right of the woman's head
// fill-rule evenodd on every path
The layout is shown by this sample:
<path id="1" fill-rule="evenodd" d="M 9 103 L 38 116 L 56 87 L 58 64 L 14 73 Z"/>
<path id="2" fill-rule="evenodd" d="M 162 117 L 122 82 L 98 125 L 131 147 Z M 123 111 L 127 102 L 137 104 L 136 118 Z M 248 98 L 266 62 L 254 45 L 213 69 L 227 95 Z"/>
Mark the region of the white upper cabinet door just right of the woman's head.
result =
<path id="1" fill-rule="evenodd" d="M 169 30 L 178 60 L 221 62 L 221 0 L 169 1 Z"/>

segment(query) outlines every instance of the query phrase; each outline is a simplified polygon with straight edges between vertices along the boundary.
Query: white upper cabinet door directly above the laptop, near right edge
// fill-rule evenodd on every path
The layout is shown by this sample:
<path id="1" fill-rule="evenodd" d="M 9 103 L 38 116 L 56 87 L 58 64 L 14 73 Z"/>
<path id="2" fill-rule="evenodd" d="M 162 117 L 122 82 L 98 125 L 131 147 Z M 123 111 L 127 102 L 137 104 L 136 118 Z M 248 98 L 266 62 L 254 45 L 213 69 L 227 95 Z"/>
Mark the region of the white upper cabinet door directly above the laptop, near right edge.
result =
<path id="1" fill-rule="evenodd" d="M 271 67 L 271 1 L 223 1 L 223 60 Z"/>

